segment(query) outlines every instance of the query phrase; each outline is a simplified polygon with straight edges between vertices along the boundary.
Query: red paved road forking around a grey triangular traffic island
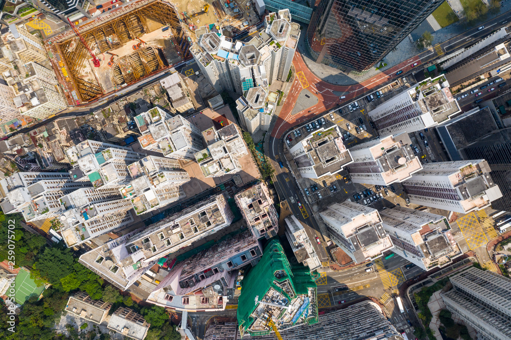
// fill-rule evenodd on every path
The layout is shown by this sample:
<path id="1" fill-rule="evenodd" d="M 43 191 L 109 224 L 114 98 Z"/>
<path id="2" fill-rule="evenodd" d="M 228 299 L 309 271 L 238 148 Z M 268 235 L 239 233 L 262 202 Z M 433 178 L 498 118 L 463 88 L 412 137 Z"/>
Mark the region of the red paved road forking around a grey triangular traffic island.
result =
<path id="1" fill-rule="evenodd" d="M 402 62 L 399 65 L 391 67 L 384 72 L 381 72 L 380 75 L 370 78 L 362 83 L 355 85 L 334 85 L 327 83 L 321 79 L 319 79 L 315 74 L 312 73 L 311 70 L 305 64 L 301 54 L 296 51 L 293 58 L 293 65 L 296 70 L 296 75 L 294 77 L 293 85 L 291 86 L 291 90 L 288 93 L 286 101 L 282 106 L 282 110 L 278 115 L 277 122 L 271 132 L 272 137 L 280 138 L 282 134 L 295 126 L 299 122 L 305 122 L 305 120 L 314 117 L 319 113 L 323 113 L 334 106 L 341 103 L 339 100 L 339 96 L 335 95 L 332 91 L 346 92 L 344 99 L 342 102 L 349 102 L 351 99 L 355 98 L 358 95 L 361 95 L 370 89 L 379 88 L 381 84 L 388 82 L 394 78 L 399 78 L 401 76 L 396 76 L 396 72 L 399 70 L 403 70 L 403 74 L 405 74 L 408 70 L 412 68 L 413 63 L 421 64 L 421 60 L 418 56 L 415 56 L 411 59 L 408 59 Z M 301 76 L 301 72 L 305 76 L 306 81 L 302 84 L 299 78 L 303 79 Z M 309 84 L 309 86 L 307 86 Z M 311 106 L 303 111 L 298 112 L 295 115 L 291 115 L 293 107 L 296 103 L 296 99 L 298 98 L 298 94 L 301 90 L 306 86 L 308 90 L 315 95 L 319 102 Z M 318 92 L 316 94 L 316 92 Z M 311 112 L 308 112 L 311 111 Z"/>

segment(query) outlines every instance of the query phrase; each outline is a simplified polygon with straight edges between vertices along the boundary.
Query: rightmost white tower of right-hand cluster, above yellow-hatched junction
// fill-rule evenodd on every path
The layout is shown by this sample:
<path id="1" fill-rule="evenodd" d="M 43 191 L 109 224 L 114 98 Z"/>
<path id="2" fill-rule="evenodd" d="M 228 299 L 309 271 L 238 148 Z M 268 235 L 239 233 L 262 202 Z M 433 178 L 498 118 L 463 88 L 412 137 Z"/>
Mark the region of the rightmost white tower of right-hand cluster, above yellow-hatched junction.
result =
<path id="1" fill-rule="evenodd" d="M 468 213 L 502 197 L 484 159 L 426 163 L 403 182 L 411 203 Z"/>

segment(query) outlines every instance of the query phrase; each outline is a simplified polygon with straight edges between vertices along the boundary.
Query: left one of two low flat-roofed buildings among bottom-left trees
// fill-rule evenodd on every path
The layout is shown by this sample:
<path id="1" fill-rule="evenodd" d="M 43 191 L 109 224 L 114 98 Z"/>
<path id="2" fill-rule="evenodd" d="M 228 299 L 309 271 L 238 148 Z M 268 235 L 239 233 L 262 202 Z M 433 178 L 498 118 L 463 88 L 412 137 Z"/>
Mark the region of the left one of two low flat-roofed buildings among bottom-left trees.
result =
<path id="1" fill-rule="evenodd" d="M 92 300 L 87 293 L 78 292 L 69 297 L 64 309 L 68 313 L 99 325 L 106 319 L 111 307 L 111 302 Z"/>

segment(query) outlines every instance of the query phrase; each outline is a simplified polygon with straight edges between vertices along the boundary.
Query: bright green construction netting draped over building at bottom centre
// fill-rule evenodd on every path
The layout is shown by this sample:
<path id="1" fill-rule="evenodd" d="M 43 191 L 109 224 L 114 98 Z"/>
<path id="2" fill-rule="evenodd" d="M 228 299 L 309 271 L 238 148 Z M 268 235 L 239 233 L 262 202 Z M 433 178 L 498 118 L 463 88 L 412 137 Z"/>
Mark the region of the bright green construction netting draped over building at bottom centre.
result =
<path id="1" fill-rule="evenodd" d="M 277 279 L 274 275 L 277 271 L 284 271 L 286 274 L 284 277 Z M 250 314 L 257 307 L 254 303 L 255 297 L 261 300 L 270 287 L 291 300 L 289 295 L 274 284 L 274 281 L 282 282 L 287 279 L 289 279 L 295 294 L 308 294 L 310 287 L 316 287 L 316 282 L 314 282 L 309 269 L 301 264 L 292 266 L 280 241 L 271 240 L 264 249 L 259 263 L 245 275 L 241 282 L 241 295 L 238 299 L 238 324 L 240 328 L 244 331 L 248 330 L 254 321 Z M 309 324 L 317 322 L 317 315 L 310 315 L 310 317 L 315 320 L 309 320 Z M 259 335 L 259 333 L 251 335 Z"/>

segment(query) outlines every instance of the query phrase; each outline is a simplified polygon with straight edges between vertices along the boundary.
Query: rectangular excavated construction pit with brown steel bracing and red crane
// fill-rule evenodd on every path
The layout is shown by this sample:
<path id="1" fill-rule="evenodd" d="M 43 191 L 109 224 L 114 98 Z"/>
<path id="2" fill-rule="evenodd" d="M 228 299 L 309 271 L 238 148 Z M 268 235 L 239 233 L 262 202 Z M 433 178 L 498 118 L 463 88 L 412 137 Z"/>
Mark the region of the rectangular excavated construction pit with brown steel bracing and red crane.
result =
<path id="1" fill-rule="evenodd" d="M 190 38 L 166 1 L 140 0 L 70 25 L 45 40 L 69 105 L 99 99 L 190 57 Z"/>

